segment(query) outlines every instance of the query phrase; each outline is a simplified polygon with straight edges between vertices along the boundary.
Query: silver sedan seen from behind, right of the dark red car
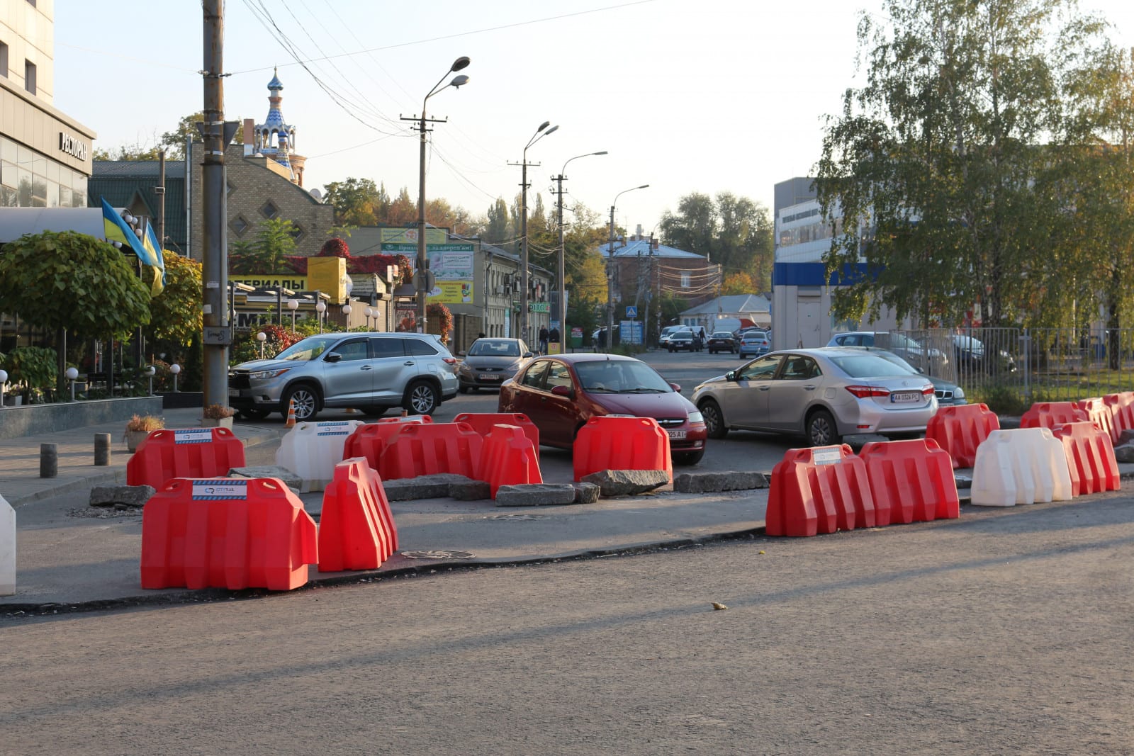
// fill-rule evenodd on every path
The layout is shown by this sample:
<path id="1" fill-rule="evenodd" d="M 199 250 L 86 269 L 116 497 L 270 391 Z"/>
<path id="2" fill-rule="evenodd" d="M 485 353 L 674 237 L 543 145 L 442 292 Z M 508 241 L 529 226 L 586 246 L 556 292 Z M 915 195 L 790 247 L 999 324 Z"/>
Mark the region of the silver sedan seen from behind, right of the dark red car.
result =
<path id="1" fill-rule="evenodd" d="M 731 430 L 802 435 L 815 447 L 852 433 L 923 433 L 933 384 L 862 349 L 772 351 L 693 391 L 709 438 Z"/>

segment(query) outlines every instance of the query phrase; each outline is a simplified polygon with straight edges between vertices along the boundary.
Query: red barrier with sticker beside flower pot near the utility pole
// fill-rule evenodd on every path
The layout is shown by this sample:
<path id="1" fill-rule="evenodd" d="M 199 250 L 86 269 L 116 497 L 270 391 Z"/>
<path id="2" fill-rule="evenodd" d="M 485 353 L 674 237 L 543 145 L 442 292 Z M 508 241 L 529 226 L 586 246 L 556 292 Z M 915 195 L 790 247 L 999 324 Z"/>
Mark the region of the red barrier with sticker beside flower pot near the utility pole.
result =
<path id="1" fill-rule="evenodd" d="M 126 484 L 160 490 L 170 478 L 225 476 L 244 465 L 244 443 L 228 428 L 163 428 L 126 462 Z"/>

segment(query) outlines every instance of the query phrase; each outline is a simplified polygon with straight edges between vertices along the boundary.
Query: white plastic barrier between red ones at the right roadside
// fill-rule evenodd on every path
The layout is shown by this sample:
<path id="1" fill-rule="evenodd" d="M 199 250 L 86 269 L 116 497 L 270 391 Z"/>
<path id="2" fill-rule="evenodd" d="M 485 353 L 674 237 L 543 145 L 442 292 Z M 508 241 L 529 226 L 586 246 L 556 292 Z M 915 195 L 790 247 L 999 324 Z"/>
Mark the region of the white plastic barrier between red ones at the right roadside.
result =
<path id="1" fill-rule="evenodd" d="M 976 448 L 972 503 L 1013 507 L 1070 498 L 1067 456 L 1048 428 L 992 431 Z"/>

